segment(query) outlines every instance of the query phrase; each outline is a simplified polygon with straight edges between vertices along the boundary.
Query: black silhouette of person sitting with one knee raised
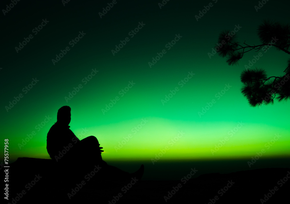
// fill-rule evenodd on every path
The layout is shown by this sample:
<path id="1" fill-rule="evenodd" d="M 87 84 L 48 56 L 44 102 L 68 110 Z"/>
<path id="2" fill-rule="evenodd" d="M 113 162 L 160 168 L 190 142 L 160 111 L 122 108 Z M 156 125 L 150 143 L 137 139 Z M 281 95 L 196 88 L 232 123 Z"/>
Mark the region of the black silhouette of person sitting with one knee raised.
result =
<path id="1" fill-rule="evenodd" d="M 63 106 L 57 112 L 57 122 L 52 125 L 47 133 L 47 152 L 50 158 L 60 164 L 62 167 L 68 169 L 77 168 L 81 165 L 79 173 L 91 172 L 94 168 L 101 169 L 98 175 L 112 178 L 129 178 L 137 176 L 139 179 L 144 172 L 144 165 L 135 173 L 128 173 L 108 165 L 102 160 L 101 153 L 103 152 L 100 147 L 99 141 L 95 136 L 89 136 L 79 140 L 73 131 L 68 126 L 71 120 L 70 107 Z M 96 168 L 95 168 L 96 169 Z"/>

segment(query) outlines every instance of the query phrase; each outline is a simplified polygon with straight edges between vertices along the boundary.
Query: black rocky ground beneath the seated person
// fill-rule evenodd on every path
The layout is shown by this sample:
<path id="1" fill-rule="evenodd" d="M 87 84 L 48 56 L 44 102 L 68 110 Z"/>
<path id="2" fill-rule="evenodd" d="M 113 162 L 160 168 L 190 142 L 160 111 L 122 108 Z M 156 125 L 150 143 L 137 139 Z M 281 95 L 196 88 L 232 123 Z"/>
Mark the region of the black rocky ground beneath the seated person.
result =
<path id="1" fill-rule="evenodd" d="M 71 168 L 70 172 L 61 171 L 52 160 L 47 159 L 18 158 L 9 166 L 9 201 L 7 202 L 6 199 L 4 201 L 13 204 L 268 204 L 289 203 L 290 201 L 289 168 L 203 174 L 197 178 L 182 180 L 108 181 L 107 178 L 78 176 L 77 168 Z M 75 167 L 77 166 L 80 167 L 81 164 L 75 164 Z M 4 173 L 4 171 L 1 172 Z M 5 173 L 2 175 L 5 177 Z"/>

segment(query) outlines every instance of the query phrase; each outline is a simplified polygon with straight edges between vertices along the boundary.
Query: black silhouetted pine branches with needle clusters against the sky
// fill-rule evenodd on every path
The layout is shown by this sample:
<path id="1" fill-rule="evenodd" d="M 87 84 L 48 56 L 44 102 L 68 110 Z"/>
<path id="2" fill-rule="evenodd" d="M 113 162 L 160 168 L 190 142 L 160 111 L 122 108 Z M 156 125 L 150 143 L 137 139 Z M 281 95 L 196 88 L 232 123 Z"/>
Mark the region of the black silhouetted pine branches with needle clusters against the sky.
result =
<path id="1" fill-rule="evenodd" d="M 237 41 L 237 35 L 230 35 L 230 31 L 222 31 L 218 37 L 218 44 L 215 50 L 222 58 L 227 57 L 226 62 L 229 65 L 236 65 L 242 59 L 244 53 L 251 50 L 256 52 L 267 50 L 274 46 L 278 51 L 290 54 L 290 25 L 282 25 L 270 20 L 264 20 L 257 30 L 260 44 L 249 45 L 244 41 L 240 44 Z M 255 56 L 258 60 L 260 56 Z M 251 62 L 251 61 L 250 61 Z M 264 69 L 250 69 L 245 65 L 246 70 L 241 74 L 242 94 L 248 99 L 250 106 L 255 107 L 262 104 L 273 104 L 276 97 L 278 101 L 290 99 L 290 59 L 287 62 L 287 68 L 282 76 L 267 77 Z"/>

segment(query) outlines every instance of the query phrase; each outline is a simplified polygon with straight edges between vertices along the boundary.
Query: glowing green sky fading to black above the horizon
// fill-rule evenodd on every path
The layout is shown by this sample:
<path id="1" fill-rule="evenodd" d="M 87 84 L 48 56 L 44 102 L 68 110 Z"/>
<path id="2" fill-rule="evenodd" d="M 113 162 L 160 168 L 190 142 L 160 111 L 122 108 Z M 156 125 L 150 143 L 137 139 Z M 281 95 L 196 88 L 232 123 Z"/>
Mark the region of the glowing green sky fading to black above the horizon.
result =
<path id="1" fill-rule="evenodd" d="M 116 1 L 100 18 L 110 2 L 19 1 L 2 14 L 0 137 L 9 139 L 10 162 L 49 158 L 46 136 L 64 105 L 72 109 L 70 129 L 79 139 L 96 136 L 105 161 L 150 162 L 165 148 L 160 160 L 251 160 L 262 149 L 263 158 L 289 157 L 289 101 L 252 108 L 240 92 L 244 65 L 258 53 L 246 53 L 237 66 L 208 55 L 219 33 L 235 26 L 241 27 L 240 42 L 258 44 L 256 29 L 263 19 L 289 23 L 288 2 L 267 1 L 256 11 L 258 1 L 172 0 L 161 9 L 161 0 Z M 211 2 L 197 21 L 195 15 Z M 33 29 L 45 19 L 35 35 Z M 17 52 L 15 47 L 30 34 L 33 38 Z M 120 41 L 126 44 L 113 55 Z M 150 66 L 158 53 L 163 56 Z M 253 67 L 264 68 L 268 76 L 282 75 L 289 57 L 274 48 L 262 54 Z M 26 91 L 33 79 L 39 81 Z M 65 98 L 79 85 L 70 100 Z M 7 111 L 19 94 L 23 97 Z M 111 107 L 106 110 L 106 105 Z M 36 134 L 19 146 L 32 131 Z M 213 153 L 215 145 L 220 149 Z"/>

